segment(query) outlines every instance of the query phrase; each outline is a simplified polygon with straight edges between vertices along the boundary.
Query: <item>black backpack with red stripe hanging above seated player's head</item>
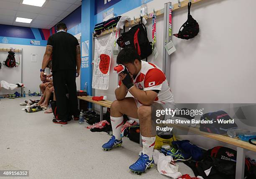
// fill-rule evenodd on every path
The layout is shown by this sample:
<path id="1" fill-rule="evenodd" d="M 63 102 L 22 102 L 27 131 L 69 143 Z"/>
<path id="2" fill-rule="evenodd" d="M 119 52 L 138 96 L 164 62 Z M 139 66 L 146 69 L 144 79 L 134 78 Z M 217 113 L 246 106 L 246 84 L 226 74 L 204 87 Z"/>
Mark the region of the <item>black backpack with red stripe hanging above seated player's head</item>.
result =
<path id="1" fill-rule="evenodd" d="M 152 54 L 152 46 L 148 41 L 147 29 L 142 23 L 142 17 L 138 25 L 133 26 L 128 32 L 121 33 L 121 35 L 117 41 L 121 48 L 135 48 L 141 59 L 146 59 Z"/>

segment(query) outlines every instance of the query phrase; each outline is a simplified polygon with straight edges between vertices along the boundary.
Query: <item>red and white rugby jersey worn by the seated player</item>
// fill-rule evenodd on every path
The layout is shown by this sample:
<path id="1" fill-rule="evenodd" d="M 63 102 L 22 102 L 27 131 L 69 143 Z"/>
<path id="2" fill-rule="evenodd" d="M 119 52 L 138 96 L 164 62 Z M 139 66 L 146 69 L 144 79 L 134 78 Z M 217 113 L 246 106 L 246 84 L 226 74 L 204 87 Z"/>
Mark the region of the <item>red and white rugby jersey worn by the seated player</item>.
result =
<path id="1" fill-rule="evenodd" d="M 155 64 L 141 61 L 141 71 L 133 79 L 135 86 L 143 91 L 159 90 L 154 100 L 158 103 L 174 103 L 173 94 L 170 90 L 164 72 Z M 119 85 L 121 81 L 119 81 Z"/>

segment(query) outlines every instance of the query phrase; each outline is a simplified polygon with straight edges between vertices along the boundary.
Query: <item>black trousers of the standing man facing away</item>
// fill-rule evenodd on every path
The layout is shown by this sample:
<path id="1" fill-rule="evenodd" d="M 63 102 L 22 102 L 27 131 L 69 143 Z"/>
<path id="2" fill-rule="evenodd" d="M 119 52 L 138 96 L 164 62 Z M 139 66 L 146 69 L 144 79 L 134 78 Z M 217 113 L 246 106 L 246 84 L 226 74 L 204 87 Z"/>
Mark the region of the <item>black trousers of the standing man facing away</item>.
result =
<path id="1" fill-rule="evenodd" d="M 52 77 L 59 119 L 67 121 L 70 115 L 78 116 L 76 71 L 61 70 L 53 72 Z"/>

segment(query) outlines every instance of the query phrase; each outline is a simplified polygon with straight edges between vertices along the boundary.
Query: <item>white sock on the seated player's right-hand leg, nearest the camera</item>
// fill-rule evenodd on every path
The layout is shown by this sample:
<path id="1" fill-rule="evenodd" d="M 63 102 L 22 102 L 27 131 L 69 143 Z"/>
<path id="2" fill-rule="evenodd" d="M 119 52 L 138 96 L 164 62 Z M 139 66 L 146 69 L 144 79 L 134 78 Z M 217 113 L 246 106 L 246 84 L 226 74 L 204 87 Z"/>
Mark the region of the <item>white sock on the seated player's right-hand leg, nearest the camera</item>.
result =
<path id="1" fill-rule="evenodd" d="M 156 137 L 141 136 L 141 139 L 142 139 L 142 146 L 143 146 L 142 153 L 147 154 L 149 157 L 149 160 L 152 160 Z"/>

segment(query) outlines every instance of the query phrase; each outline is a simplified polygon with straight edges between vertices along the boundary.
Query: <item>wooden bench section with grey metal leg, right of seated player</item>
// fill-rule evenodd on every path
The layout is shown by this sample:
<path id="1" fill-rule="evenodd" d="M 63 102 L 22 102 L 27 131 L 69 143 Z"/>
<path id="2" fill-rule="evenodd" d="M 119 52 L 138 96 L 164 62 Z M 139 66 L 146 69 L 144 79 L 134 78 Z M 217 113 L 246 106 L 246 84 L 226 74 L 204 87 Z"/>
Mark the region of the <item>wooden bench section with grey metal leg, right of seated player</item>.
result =
<path id="1" fill-rule="evenodd" d="M 200 131 L 198 127 L 193 128 L 193 127 L 187 127 L 187 126 L 178 125 L 178 124 L 170 124 L 170 126 L 236 146 L 236 149 L 237 149 L 236 179 L 244 178 L 245 152 L 248 150 L 256 152 L 256 146 L 248 142 L 241 141 L 238 138 L 230 138 L 227 134 L 219 135 L 219 134 L 206 133 L 206 132 Z"/>

